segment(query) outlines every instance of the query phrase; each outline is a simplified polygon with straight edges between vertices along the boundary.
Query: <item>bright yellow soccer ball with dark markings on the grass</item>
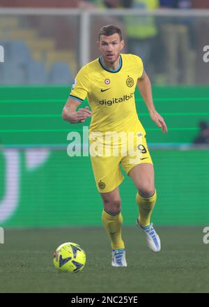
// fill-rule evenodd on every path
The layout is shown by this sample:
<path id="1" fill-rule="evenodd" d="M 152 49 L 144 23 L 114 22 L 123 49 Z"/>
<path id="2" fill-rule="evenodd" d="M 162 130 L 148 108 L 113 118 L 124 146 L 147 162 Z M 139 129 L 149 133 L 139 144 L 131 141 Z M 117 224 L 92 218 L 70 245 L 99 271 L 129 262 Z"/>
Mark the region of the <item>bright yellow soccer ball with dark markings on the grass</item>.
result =
<path id="1" fill-rule="evenodd" d="M 84 269 L 85 263 L 86 254 L 78 244 L 63 243 L 55 250 L 53 264 L 59 271 L 76 273 Z"/>

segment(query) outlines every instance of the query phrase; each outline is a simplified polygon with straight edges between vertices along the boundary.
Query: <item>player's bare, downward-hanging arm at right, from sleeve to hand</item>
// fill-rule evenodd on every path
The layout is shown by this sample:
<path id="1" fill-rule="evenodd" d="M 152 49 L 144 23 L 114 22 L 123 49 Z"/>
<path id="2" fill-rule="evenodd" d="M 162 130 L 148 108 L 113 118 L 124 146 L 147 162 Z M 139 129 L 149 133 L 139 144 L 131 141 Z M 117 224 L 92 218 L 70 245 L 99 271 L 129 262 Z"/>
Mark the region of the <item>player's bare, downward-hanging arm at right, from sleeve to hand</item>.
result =
<path id="1" fill-rule="evenodd" d="M 141 96 L 144 99 L 146 106 L 148 107 L 148 111 L 150 113 L 151 119 L 153 119 L 153 121 L 157 123 L 158 127 L 162 128 L 162 133 L 168 132 L 167 124 L 164 122 L 164 119 L 162 118 L 162 116 L 155 110 L 150 78 L 148 77 L 145 71 L 143 75 L 138 79 L 137 84 L 138 84 Z"/>

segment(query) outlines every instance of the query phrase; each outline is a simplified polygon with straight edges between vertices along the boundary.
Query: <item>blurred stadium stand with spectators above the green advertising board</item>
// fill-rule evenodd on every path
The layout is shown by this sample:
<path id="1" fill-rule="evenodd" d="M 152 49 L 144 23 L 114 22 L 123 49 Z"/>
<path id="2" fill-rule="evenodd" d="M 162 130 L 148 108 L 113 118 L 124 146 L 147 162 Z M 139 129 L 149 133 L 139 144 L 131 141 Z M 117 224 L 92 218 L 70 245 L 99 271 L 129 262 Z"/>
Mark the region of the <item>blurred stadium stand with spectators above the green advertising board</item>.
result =
<path id="1" fill-rule="evenodd" d="M 0 0 L 0 8 L 209 8 L 208 0 Z M 80 66 L 79 16 L 0 15 L 5 63 L 0 84 L 70 84 Z M 124 52 L 138 54 L 155 84 L 206 84 L 208 69 L 197 54 L 208 45 L 208 18 L 154 15 L 93 17 L 91 59 L 98 57 L 98 29 L 118 24 Z M 167 59 L 164 61 L 164 59 Z"/>

